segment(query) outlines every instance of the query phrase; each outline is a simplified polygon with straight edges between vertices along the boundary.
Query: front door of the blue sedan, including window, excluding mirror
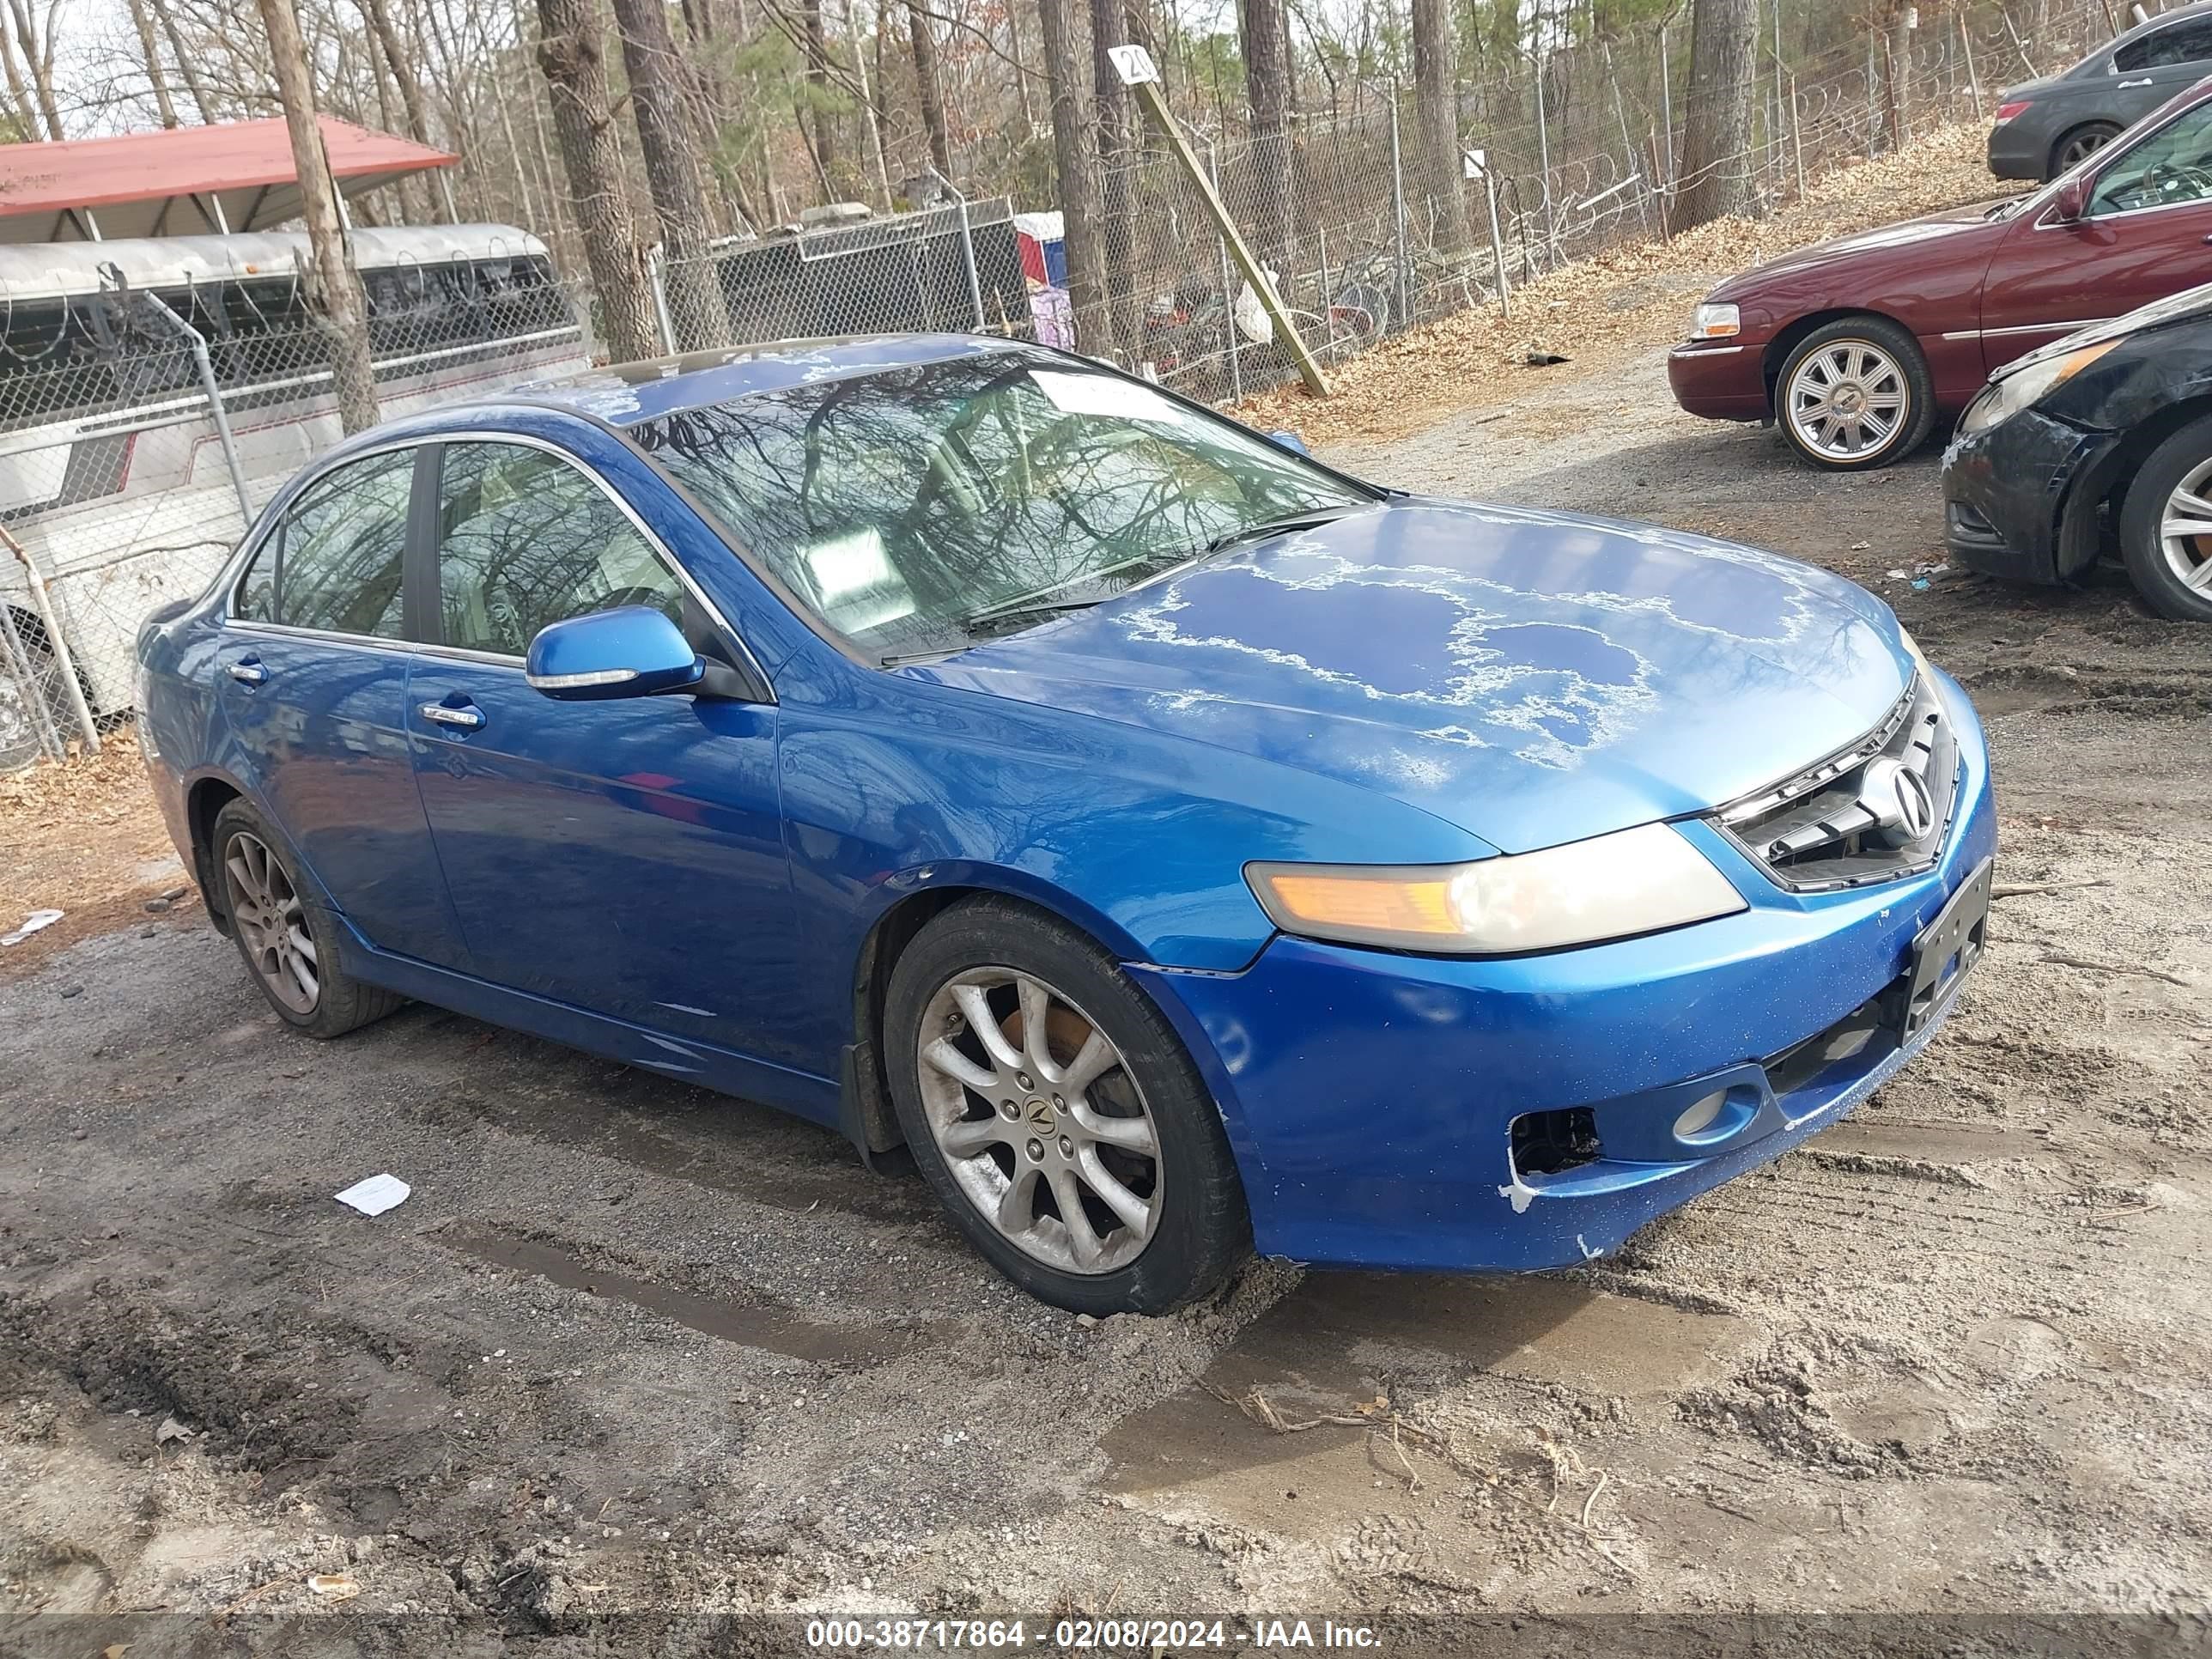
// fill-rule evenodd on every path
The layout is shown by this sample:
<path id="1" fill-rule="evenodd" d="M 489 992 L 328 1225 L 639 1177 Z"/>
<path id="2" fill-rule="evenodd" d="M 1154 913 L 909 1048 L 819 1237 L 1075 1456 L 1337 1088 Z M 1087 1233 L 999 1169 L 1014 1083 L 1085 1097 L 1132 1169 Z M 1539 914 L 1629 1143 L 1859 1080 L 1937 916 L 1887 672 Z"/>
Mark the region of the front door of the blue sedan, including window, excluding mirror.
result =
<path id="1" fill-rule="evenodd" d="M 794 1060 L 774 703 L 555 701 L 522 675 L 540 628 L 617 604 L 741 648 L 613 489 L 538 445 L 442 445 L 436 580 L 409 741 L 476 973 Z"/>

